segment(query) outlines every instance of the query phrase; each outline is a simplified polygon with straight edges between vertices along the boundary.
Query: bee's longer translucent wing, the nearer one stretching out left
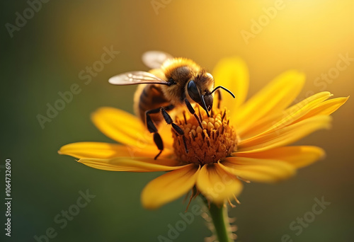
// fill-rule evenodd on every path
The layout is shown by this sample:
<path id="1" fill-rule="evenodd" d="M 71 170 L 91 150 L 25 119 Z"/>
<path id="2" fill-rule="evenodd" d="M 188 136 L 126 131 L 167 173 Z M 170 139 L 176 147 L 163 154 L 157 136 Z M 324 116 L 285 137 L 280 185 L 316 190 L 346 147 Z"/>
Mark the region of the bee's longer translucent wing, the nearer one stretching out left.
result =
<path id="1" fill-rule="evenodd" d="M 112 76 L 108 82 L 113 85 L 134 85 L 143 83 L 169 85 L 169 82 L 146 71 L 125 72 L 117 76 Z"/>

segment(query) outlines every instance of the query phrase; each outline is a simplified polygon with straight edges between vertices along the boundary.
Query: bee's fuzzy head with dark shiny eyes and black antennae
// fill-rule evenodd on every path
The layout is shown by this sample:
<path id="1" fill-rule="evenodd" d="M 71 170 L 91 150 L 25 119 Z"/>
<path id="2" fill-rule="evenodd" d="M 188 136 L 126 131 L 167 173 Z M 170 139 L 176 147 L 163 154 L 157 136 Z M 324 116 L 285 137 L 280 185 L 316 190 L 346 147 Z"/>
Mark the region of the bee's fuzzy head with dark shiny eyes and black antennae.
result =
<path id="1" fill-rule="evenodd" d="M 214 78 L 207 72 L 198 74 L 195 76 L 194 80 L 191 79 L 187 83 L 188 95 L 193 101 L 195 101 L 195 103 L 198 103 L 205 110 L 205 112 L 207 112 L 208 117 L 209 111 L 212 110 L 212 103 L 214 101 L 212 93 L 214 93 L 217 89 L 222 88 L 235 97 L 231 91 L 227 90 L 227 88 L 224 88 L 223 86 L 217 86 L 214 89 L 213 87 Z"/>

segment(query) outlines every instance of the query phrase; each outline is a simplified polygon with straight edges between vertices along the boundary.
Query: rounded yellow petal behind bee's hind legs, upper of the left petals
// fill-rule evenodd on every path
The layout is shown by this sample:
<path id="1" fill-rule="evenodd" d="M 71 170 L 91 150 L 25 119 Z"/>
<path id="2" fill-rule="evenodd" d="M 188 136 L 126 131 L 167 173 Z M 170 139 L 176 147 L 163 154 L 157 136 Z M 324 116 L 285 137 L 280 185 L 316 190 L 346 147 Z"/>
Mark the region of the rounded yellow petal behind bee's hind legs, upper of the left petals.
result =
<path id="1" fill-rule="evenodd" d="M 91 118 L 96 127 L 110 139 L 141 149 L 152 149 L 154 146 L 152 135 L 142 122 L 130 113 L 103 107 L 96 110 Z"/>

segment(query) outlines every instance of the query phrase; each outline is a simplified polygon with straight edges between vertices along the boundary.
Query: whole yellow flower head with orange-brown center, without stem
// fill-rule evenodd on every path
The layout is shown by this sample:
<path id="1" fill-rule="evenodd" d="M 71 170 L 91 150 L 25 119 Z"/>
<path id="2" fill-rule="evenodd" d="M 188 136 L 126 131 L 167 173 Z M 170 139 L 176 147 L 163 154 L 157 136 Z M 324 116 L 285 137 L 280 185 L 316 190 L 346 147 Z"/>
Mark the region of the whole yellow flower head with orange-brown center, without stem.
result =
<path id="1" fill-rule="evenodd" d="M 249 76 L 238 58 L 223 59 L 213 76 L 216 86 L 229 88 L 236 100 L 224 95 L 222 105 L 226 108 L 214 107 L 211 117 L 199 112 L 202 127 L 188 112 L 174 117 L 185 132 L 188 153 L 181 136 L 169 125 L 160 125 L 165 149 L 154 160 L 158 149 L 138 117 L 115 108 L 99 108 L 92 115 L 94 124 L 121 144 L 79 142 L 62 146 L 59 154 L 106 171 L 169 171 L 142 191 L 142 204 L 149 209 L 190 190 L 192 196 L 200 192 L 210 202 L 222 204 L 236 199 L 242 181 L 272 183 L 289 178 L 297 168 L 324 156 L 316 146 L 287 145 L 317 129 L 329 128 L 329 115 L 348 100 L 328 100 L 331 93 L 321 92 L 289 107 L 304 85 L 304 74 L 290 70 L 244 102 Z"/>

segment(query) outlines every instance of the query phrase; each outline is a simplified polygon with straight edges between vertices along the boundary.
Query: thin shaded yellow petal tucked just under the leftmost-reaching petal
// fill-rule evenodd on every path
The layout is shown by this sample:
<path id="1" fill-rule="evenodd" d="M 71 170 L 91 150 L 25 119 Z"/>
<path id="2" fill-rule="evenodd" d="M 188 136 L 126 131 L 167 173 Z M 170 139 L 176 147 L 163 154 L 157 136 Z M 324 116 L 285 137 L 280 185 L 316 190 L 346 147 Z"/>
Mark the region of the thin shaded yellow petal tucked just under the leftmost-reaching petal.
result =
<path id="1" fill-rule="evenodd" d="M 154 160 L 148 157 L 117 157 L 113 159 L 80 159 L 79 162 L 105 171 L 151 172 L 183 168 L 175 159 L 166 158 Z"/>

